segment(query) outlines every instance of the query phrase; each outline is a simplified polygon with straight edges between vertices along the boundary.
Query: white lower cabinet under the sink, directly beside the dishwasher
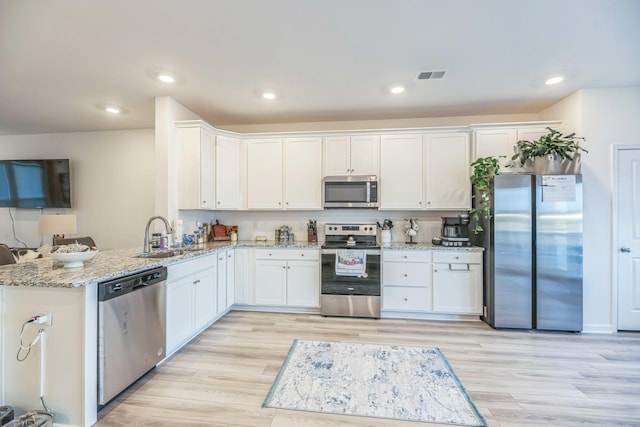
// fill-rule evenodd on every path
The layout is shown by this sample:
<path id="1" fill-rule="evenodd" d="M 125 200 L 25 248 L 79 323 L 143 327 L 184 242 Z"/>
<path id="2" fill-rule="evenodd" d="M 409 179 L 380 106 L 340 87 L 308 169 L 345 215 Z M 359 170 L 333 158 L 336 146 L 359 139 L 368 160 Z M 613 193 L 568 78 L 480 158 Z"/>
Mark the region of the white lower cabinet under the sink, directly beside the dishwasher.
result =
<path id="1" fill-rule="evenodd" d="M 170 265 L 167 278 L 167 355 L 217 315 L 216 255 Z"/>

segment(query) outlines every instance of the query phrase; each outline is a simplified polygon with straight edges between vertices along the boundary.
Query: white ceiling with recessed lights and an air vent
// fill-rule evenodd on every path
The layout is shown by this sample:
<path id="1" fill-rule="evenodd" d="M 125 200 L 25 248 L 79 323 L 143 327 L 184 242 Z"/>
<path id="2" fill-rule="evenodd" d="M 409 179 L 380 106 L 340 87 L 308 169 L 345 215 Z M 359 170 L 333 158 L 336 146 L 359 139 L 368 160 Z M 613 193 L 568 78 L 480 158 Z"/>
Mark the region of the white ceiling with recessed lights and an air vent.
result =
<path id="1" fill-rule="evenodd" d="M 220 127 L 536 113 L 640 85 L 639 23 L 638 0 L 0 0 L 0 134 L 151 128 L 165 95 Z"/>

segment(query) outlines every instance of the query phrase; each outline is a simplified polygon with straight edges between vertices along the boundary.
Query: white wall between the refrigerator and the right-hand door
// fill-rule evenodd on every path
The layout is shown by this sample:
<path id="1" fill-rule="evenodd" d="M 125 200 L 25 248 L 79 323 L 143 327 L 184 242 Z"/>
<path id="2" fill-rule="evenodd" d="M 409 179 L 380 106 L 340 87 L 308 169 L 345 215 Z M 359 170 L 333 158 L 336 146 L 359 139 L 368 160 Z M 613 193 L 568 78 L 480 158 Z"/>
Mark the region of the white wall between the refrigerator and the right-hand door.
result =
<path id="1" fill-rule="evenodd" d="M 640 87 L 585 89 L 540 113 L 586 138 L 584 200 L 584 330 L 613 332 L 612 145 L 640 143 Z"/>

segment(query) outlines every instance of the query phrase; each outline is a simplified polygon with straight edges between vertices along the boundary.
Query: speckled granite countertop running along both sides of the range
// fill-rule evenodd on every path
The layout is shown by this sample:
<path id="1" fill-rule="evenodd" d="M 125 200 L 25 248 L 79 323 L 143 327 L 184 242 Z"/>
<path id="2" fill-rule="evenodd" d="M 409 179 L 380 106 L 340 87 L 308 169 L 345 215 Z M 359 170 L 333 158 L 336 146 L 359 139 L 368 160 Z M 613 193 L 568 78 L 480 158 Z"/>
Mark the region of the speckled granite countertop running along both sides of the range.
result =
<path id="1" fill-rule="evenodd" d="M 94 282 L 115 279 L 138 273 L 154 267 L 169 266 L 191 258 L 234 247 L 274 248 L 274 249 L 320 249 L 321 242 L 278 243 L 275 241 L 255 242 L 212 242 L 200 248 L 184 251 L 180 255 L 168 258 L 137 258 L 142 251 L 139 248 L 113 249 L 100 251 L 93 259 L 84 262 L 80 268 L 65 268 L 62 263 L 51 257 L 35 259 L 0 266 L 0 285 L 28 286 L 48 288 L 77 288 Z M 444 250 L 444 251 L 483 251 L 480 247 L 444 247 L 431 243 L 390 243 L 382 245 L 382 249 L 406 250 Z"/>

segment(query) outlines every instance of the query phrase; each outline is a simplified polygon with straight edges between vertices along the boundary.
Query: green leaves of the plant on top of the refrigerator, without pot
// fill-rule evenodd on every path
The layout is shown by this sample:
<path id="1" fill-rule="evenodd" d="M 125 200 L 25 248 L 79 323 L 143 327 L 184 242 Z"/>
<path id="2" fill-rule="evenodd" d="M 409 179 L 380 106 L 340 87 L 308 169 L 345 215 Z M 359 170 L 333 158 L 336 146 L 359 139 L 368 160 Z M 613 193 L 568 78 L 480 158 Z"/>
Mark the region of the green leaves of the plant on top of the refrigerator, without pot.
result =
<path id="1" fill-rule="evenodd" d="M 518 161 L 520 166 L 524 166 L 528 159 L 535 157 L 544 157 L 549 155 L 558 156 L 561 159 L 573 160 L 576 153 L 587 150 L 580 146 L 580 142 L 585 139 L 580 136 L 576 136 L 575 132 L 568 135 L 563 135 L 561 132 L 547 127 L 549 133 L 542 135 L 535 141 L 521 140 L 516 142 L 517 151 L 516 154 L 511 157 L 511 164 L 514 166 L 514 162 Z"/>

